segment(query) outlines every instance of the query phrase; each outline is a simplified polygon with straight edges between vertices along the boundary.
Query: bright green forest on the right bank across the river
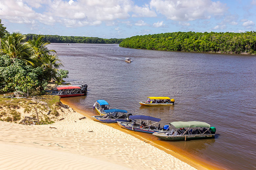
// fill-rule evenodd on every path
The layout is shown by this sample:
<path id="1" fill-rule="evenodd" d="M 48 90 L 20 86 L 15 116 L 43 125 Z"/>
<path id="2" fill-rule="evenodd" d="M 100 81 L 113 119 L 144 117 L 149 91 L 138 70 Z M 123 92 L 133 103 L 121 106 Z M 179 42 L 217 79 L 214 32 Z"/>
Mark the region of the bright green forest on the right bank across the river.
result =
<path id="1" fill-rule="evenodd" d="M 165 51 L 256 54 L 256 32 L 190 31 L 138 35 L 124 39 L 119 46 Z"/>

